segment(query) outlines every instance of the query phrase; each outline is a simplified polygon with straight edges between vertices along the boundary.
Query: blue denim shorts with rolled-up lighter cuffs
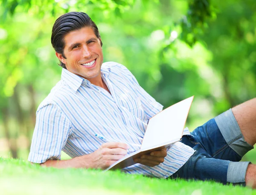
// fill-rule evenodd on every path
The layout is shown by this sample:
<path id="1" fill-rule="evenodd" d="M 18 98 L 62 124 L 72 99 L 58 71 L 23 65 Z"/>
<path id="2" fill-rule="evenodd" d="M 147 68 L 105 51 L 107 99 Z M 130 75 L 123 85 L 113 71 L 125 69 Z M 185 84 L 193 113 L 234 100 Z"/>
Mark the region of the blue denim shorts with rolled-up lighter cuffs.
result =
<path id="1" fill-rule="evenodd" d="M 245 185 L 250 162 L 239 161 L 253 146 L 244 140 L 231 109 L 197 127 L 191 136 L 183 136 L 181 142 L 195 153 L 171 178 Z"/>

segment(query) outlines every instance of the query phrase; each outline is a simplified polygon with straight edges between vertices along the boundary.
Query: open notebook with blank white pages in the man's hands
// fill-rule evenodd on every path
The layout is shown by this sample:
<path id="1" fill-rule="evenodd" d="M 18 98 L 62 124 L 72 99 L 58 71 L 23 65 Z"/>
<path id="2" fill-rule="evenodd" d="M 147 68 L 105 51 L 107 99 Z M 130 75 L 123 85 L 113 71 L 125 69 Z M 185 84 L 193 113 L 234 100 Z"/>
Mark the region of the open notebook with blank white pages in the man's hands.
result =
<path id="1" fill-rule="evenodd" d="M 182 137 L 193 99 L 194 96 L 184 99 L 149 119 L 140 150 L 125 155 L 124 158 L 116 161 L 106 170 L 129 167 L 135 164 L 133 161 L 135 158 L 155 150 L 162 150 L 179 141 Z"/>

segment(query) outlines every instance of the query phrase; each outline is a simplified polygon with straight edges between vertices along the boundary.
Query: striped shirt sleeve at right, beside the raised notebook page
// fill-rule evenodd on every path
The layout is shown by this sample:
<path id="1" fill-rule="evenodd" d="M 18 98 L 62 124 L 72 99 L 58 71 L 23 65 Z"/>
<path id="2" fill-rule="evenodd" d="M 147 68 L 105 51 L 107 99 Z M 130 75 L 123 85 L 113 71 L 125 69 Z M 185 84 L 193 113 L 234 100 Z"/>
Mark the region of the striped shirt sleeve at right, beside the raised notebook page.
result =
<path id="1" fill-rule="evenodd" d="M 124 73 L 123 75 L 128 78 L 135 87 L 135 90 L 140 97 L 141 104 L 145 111 L 147 119 L 150 119 L 151 117 L 162 111 L 163 105 L 158 103 L 151 95 L 149 95 L 142 87 L 140 87 L 140 84 L 138 83 L 135 76 L 124 65 L 118 64 L 118 66 L 122 69 Z"/>

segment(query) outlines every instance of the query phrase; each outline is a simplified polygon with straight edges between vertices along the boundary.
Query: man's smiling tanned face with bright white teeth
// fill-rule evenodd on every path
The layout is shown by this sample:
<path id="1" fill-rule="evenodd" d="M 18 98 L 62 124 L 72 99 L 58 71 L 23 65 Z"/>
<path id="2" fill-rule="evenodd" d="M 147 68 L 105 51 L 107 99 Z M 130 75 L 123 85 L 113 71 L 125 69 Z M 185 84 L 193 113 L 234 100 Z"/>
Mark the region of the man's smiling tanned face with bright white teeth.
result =
<path id="1" fill-rule="evenodd" d="M 100 68 L 103 62 L 102 47 L 91 27 L 71 31 L 64 37 L 64 56 L 56 53 L 66 65 L 68 71 L 91 82 L 101 78 Z"/>

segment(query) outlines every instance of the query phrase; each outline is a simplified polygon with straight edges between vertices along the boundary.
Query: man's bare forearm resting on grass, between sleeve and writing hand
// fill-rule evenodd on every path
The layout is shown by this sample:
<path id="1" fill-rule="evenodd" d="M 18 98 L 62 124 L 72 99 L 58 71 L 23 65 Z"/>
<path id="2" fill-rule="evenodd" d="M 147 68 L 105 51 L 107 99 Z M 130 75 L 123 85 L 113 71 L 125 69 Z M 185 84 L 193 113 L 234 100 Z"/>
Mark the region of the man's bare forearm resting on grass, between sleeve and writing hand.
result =
<path id="1" fill-rule="evenodd" d="M 90 160 L 90 154 L 75 157 L 69 160 L 47 160 L 40 165 L 43 167 L 55 168 L 95 168 L 93 162 Z"/>

